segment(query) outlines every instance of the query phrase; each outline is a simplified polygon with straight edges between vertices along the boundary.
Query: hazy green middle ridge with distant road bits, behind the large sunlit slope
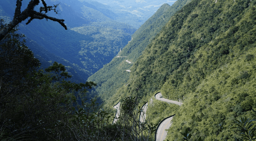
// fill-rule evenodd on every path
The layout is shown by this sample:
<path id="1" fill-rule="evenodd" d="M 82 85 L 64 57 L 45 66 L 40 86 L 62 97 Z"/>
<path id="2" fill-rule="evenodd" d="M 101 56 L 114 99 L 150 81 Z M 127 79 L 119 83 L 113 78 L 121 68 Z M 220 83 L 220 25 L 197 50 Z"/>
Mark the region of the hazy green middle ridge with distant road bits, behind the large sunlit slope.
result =
<path id="1" fill-rule="evenodd" d="M 105 65 L 88 78 L 88 81 L 93 81 L 98 85 L 96 87 L 96 93 L 101 96 L 103 100 L 108 100 L 117 92 L 118 88 L 127 84 L 129 72 L 126 70 L 131 68 L 133 63 L 135 63 L 142 54 L 142 51 L 169 21 L 171 16 L 188 2 L 189 0 L 178 0 L 172 6 L 168 4 L 162 5 L 159 10 L 132 35 L 132 40 L 128 45 L 118 53 L 118 55 L 122 57 L 114 57 L 109 64 Z M 125 60 L 130 61 L 131 64 L 125 62 Z M 111 101 L 111 103 L 116 104 L 116 99 Z"/>

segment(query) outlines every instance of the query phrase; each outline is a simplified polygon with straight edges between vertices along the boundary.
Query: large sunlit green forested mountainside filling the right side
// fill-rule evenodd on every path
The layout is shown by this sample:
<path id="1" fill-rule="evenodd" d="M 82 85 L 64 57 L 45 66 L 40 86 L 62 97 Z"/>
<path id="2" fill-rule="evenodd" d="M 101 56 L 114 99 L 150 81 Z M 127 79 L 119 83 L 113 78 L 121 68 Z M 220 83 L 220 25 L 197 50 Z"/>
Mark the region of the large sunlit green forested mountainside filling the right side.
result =
<path id="1" fill-rule="evenodd" d="M 150 101 L 161 91 L 184 103 L 177 111 L 168 105 L 148 111 L 151 117 L 176 113 L 168 140 L 183 140 L 186 128 L 192 140 L 234 140 L 234 119 L 252 119 L 256 108 L 255 41 L 255 0 L 193 0 L 145 48 L 130 69 L 129 85 L 112 99 Z"/>

